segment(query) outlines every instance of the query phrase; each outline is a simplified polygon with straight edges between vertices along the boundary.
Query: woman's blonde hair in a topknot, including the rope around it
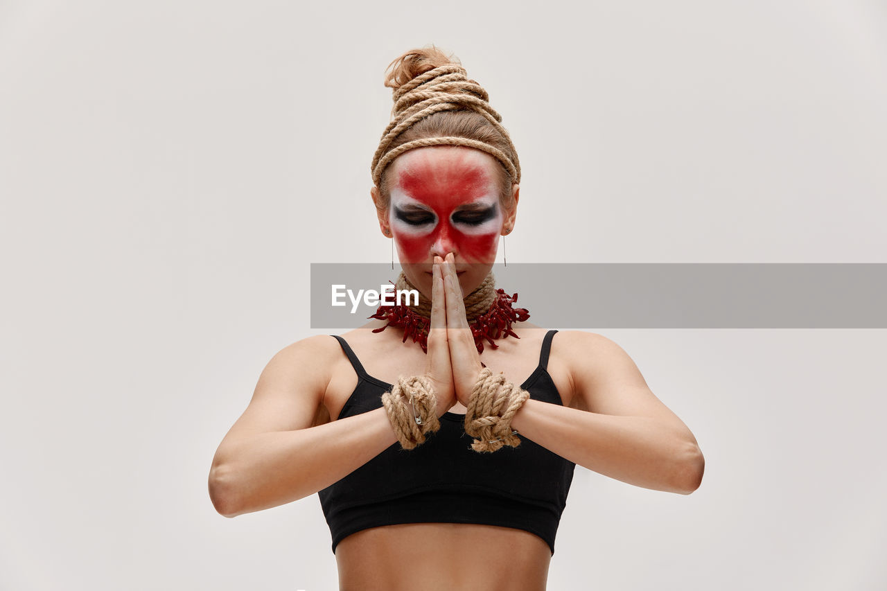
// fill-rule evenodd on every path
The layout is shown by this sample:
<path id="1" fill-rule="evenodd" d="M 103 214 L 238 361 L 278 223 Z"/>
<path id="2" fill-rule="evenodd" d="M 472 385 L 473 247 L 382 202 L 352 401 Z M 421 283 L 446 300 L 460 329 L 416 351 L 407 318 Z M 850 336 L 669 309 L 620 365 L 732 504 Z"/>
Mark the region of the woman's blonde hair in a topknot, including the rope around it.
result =
<path id="1" fill-rule="evenodd" d="M 406 51 L 386 68 L 385 86 L 392 89 L 395 104 L 373 157 L 380 209 L 387 209 L 390 201 L 386 169 L 397 155 L 420 146 L 468 146 L 491 154 L 501 164 L 499 201 L 504 207 L 511 204 L 512 184 L 521 178 L 517 151 L 487 91 L 467 79 L 459 59 L 434 45 Z"/>

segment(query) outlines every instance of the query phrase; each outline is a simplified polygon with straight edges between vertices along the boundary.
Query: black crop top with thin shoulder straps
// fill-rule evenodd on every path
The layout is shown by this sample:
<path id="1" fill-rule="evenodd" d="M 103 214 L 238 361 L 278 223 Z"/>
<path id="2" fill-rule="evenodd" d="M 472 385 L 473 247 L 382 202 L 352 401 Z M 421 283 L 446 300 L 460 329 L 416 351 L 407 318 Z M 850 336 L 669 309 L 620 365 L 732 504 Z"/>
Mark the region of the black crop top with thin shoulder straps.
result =
<path id="1" fill-rule="evenodd" d="M 530 398 L 561 405 L 546 366 L 556 330 L 542 343 L 539 365 L 521 387 Z M 339 418 L 382 406 L 392 385 L 366 374 L 341 336 L 341 348 L 357 372 L 357 388 Z M 488 524 L 535 533 L 554 554 L 554 536 L 567 503 L 575 464 L 521 435 L 521 445 L 495 453 L 471 449 L 464 414 L 446 413 L 441 428 L 422 445 L 399 444 L 318 492 L 336 545 L 354 532 L 392 524 Z"/>

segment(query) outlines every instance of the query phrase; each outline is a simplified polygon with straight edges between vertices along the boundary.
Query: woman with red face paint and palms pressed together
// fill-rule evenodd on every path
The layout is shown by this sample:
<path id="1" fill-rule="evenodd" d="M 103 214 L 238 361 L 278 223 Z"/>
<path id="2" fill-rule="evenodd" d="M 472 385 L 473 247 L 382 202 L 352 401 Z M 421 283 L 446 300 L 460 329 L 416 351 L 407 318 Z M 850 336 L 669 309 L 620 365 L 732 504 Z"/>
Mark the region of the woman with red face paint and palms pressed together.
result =
<path id="1" fill-rule="evenodd" d="M 544 589 L 575 464 L 687 494 L 703 454 L 616 343 L 494 289 L 520 164 L 483 88 L 435 48 L 389 70 L 371 193 L 421 301 L 271 359 L 210 496 L 238 516 L 319 493 L 341 589 Z"/>

